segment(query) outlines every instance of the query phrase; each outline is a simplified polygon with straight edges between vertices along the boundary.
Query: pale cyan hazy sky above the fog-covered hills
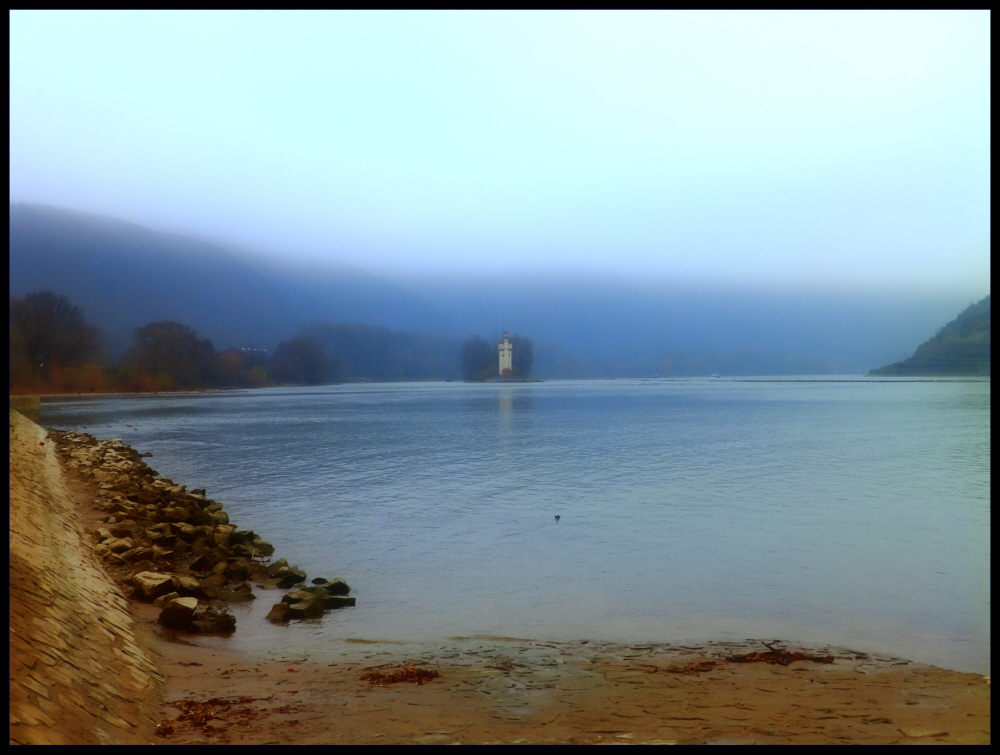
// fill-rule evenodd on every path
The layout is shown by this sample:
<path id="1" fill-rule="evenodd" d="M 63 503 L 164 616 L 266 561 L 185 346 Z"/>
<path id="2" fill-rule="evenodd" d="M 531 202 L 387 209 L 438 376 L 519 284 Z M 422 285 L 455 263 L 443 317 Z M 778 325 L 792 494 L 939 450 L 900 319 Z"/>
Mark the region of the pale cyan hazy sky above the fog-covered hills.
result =
<path id="1" fill-rule="evenodd" d="M 986 11 L 10 20 L 12 201 L 377 273 L 989 290 Z"/>

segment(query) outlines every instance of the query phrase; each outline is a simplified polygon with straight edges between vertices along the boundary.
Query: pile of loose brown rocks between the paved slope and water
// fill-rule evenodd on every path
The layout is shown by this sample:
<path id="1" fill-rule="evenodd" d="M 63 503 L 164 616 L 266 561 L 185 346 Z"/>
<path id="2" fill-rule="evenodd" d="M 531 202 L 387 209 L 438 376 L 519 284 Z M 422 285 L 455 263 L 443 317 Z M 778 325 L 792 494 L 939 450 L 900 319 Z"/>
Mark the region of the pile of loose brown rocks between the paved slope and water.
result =
<path id="1" fill-rule="evenodd" d="M 238 530 L 221 503 L 204 489 L 159 477 L 120 440 L 51 431 L 65 464 L 96 485 L 95 506 L 106 514 L 87 527 L 94 555 L 137 600 L 162 607 L 159 622 L 190 632 L 230 632 L 228 605 L 256 598 L 251 587 L 292 588 L 306 573 L 285 559 L 269 563 L 274 546 L 251 530 Z M 311 618 L 354 605 L 342 579 L 318 578 L 285 595 L 273 621 Z"/>

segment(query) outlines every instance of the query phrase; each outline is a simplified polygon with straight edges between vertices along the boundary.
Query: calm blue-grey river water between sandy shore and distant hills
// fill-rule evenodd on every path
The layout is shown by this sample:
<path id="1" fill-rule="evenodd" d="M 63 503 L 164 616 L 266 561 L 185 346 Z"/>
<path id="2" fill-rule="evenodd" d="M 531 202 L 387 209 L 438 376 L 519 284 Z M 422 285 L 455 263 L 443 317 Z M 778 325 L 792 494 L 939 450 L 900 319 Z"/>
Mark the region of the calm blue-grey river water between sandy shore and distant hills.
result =
<path id="1" fill-rule="evenodd" d="M 272 627 L 258 591 L 236 644 L 781 638 L 989 673 L 988 381 L 338 385 L 42 422 L 152 451 L 358 598 Z"/>

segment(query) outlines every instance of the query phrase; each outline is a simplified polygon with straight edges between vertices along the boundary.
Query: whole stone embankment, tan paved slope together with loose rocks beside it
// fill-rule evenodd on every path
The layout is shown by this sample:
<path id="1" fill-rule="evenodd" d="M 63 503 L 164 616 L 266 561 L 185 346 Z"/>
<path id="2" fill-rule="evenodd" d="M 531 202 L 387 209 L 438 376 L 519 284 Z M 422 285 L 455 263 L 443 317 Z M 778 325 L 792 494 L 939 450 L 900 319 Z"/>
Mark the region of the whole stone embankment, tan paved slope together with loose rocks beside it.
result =
<path id="1" fill-rule="evenodd" d="M 158 641 L 129 598 L 181 633 L 234 631 L 228 607 L 255 597 L 251 583 L 294 588 L 277 622 L 354 605 L 342 579 L 307 587 L 301 569 L 269 563 L 272 545 L 149 456 L 10 412 L 11 743 L 155 741 Z"/>

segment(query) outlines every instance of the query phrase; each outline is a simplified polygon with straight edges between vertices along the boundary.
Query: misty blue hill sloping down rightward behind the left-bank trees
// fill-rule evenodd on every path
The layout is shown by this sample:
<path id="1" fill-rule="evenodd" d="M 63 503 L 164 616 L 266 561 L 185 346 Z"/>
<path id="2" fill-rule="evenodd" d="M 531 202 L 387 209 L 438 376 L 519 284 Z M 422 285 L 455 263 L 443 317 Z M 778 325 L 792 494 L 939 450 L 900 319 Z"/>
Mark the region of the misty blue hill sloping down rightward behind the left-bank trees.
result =
<path id="1" fill-rule="evenodd" d="M 135 328 L 157 320 L 189 325 L 220 350 L 273 349 L 316 320 L 451 330 L 416 296 L 346 265 L 300 271 L 120 220 L 12 204 L 10 295 L 42 290 L 79 306 L 111 356 Z"/>

